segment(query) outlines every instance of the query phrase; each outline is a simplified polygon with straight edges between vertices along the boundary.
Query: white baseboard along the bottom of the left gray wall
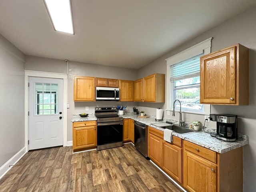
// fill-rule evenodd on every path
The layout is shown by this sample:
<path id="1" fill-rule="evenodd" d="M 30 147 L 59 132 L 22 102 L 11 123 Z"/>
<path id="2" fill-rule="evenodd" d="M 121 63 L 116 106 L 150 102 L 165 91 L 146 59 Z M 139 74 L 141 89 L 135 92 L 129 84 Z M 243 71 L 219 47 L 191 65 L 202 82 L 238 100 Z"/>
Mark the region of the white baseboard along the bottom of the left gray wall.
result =
<path id="1" fill-rule="evenodd" d="M 12 158 L 10 158 L 2 167 L 0 167 L 0 179 L 12 168 L 9 165 L 15 165 L 20 158 L 26 154 L 26 147 L 23 147 L 18 153 L 16 153 Z"/>

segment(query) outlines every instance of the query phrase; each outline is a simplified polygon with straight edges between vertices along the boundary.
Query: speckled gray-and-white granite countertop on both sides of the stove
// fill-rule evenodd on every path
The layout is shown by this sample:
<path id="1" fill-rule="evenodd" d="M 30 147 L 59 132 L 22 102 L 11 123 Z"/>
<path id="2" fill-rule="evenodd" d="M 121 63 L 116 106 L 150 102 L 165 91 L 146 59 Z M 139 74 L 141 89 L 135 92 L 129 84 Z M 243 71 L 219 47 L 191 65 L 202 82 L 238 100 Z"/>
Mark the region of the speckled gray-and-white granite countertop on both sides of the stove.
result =
<path id="1" fill-rule="evenodd" d="M 166 122 L 166 121 L 170 121 L 175 124 L 178 124 L 177 120 L 172 120 L 172 119 L 167 119 L 167 118 L 164 118 L 163 121 L 156 122 L 155 116 L 150 116 L 149 118 L 139 118 L 138 115 L 133 115 L 133 114 L 124 114 L 121 116 L 123 118 L 130 118 L 130 119 L 136 120 L 138 122 L 141 122 L 143 124 L 146 124 L 148 126 L 151 126 L 158 130 L 161 130 L 161 131 L 164 131 L 164 129 L 154 126 L 154 125 L 151 125 L 151 124 Z M 93 121 L 93 120 L 97 120 L 97 118 L 94 116 L 94 114 L 89 114 L 88 117 L 86 117 L 86 118 L 81 118 L 79 116 L 79 114 L 74 114 L 71 121 L 79 122 L 79 121 Z M 216 129 L 206 128 L 206 132 L 210 133 L 210 132 L 214 132 L 214 131 L 216 131 Z M 243 134 L 238 134 L 238 140 L 236 140 L 235 142 L 226 142 L 226 141 L 219 140 L 215 137 L 212 137 L 212 136 L 210 136 L 209 133 L 206 133 L 206 132 L 197 131 L 197 132 L 188 133 L 188 134 L 184 134 L 184 135 L 180 135 L 180 134 L 177 134 L 174 132 L 173 135 L 176 137 L 182 138 L 184 140 L 187 140 L 189 142 L 192 142 L 194 144 L 198 144 L 200 146 L 203 146 L 205 148 L 208 148 L 208 149 L 213 150 L 218 153 L 228 152 L 230 150 L 233 150 L 233 149 L 236 149 L 236 148 L 239 148 L 241 146 L 248 144 L 248 136 L 243 135 Z"/>

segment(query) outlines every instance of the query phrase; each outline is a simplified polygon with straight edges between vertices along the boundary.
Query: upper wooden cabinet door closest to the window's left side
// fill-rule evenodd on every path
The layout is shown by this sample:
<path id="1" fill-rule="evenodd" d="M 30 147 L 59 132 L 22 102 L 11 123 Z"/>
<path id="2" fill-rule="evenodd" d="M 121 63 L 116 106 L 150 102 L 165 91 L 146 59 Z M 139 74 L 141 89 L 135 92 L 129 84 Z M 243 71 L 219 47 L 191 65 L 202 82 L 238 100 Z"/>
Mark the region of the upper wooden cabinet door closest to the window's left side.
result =
<path id="1" fill-rule="evenodd" d="M 156 102 L 156 74 L 144 77 L 144 102 Z"/>

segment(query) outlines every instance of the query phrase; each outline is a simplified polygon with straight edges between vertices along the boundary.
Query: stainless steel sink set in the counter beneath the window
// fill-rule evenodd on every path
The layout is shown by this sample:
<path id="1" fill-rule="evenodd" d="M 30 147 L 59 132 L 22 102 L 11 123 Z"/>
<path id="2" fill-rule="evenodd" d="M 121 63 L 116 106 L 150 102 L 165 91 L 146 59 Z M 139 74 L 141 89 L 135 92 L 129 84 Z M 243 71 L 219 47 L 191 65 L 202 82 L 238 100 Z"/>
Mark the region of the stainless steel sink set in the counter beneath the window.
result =
<path id="1" fill-rule="evenodd" d="M 172 122 L 166 122 L 166 123 L 154 123 L 152 124 L 154 126 L 158 126 L 160 128 L 163 129 L 170 129 L 170 130 L 174 130 L 176 133 L 183 135 L 183 134 L 188 134 L 188 133 L 194 133 L 196 132 L 193 129 L 190 129 L 188 127 L 185 126 L 179 126 L 178 124 L 174 124 Z"/>

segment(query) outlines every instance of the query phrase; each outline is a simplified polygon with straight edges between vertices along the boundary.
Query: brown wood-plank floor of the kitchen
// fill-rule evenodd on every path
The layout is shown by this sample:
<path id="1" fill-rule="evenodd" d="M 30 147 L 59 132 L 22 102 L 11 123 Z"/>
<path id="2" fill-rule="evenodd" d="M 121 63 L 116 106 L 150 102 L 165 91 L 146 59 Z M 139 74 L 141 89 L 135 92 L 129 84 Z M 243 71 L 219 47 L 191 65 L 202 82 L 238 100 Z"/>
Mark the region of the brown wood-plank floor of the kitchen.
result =
<path id="1" fill-rule="evenodd" d="M 122 192 L 181 190 L 132 144 L 72 154 L 72 147 L 26 153 L 0 180 L 0 192 Z"/>

